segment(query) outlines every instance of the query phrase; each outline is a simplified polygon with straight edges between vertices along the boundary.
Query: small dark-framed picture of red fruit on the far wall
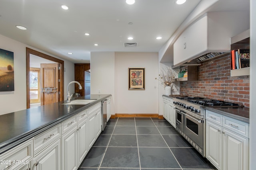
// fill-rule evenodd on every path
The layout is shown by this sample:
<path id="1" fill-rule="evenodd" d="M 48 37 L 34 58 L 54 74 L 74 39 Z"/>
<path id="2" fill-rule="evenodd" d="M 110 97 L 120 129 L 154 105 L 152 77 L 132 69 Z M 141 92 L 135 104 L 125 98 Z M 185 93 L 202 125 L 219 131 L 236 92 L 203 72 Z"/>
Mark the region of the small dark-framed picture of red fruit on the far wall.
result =
<path id="1" fill-rule="evenodd" d="M 145 90 L 145 68 L 129 68 L 129 90 Z"/>

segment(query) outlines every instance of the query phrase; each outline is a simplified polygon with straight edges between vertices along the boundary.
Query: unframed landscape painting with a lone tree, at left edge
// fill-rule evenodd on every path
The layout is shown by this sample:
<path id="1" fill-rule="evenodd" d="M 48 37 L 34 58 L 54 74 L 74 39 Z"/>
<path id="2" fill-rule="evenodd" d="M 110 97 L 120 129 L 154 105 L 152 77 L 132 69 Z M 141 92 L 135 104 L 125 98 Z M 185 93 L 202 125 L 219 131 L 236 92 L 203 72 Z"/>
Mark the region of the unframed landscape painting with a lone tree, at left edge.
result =
<path id="1" fill-rule="evenodd" d="M 0 92 L 14 91 L 14 53 L 0 49 Z"/>

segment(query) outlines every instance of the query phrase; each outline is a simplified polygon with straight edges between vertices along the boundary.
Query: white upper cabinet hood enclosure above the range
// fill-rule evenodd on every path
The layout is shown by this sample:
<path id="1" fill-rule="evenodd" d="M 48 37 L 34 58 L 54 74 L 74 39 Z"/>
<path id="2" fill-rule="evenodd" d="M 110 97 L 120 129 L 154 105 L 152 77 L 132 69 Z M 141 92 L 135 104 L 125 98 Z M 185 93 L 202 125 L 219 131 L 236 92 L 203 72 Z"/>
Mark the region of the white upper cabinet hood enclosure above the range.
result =
<path id="1" fill-rule="evenodd" d="M 250 21 L 246 12 L 204 14 L 174 42 L 174 65 L 186 63 L 206 53 L 230 52 L 230 37 L 249 27 Z"/>

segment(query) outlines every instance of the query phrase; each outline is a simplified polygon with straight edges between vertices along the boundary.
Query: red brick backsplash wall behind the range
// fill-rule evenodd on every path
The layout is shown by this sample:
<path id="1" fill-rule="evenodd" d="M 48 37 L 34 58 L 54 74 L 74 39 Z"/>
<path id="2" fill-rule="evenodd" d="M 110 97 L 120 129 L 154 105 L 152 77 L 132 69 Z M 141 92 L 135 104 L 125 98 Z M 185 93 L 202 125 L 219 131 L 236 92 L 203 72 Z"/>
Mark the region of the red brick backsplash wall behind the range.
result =
<path id="1" fill-rule="evenodd" d="M 250 107 L 250 76 L 230 76 L 230 55 L 202 63 L 198 81 L 180 82 L 180 94 Z"/>

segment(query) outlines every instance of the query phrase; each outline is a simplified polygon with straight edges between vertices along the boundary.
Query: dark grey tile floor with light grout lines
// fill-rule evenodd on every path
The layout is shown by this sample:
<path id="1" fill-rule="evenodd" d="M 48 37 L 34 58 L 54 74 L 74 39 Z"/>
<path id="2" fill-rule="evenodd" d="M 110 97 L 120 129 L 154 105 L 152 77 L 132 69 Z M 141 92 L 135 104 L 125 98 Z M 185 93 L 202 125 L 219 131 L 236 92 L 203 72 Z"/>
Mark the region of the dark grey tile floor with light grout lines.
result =
<path id="1" fill-rule="evenodd" d="M 79 170 L 215 170 L 166 120 L 110 119 Z"/>

